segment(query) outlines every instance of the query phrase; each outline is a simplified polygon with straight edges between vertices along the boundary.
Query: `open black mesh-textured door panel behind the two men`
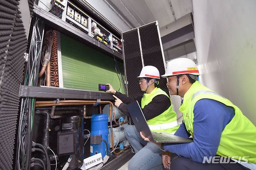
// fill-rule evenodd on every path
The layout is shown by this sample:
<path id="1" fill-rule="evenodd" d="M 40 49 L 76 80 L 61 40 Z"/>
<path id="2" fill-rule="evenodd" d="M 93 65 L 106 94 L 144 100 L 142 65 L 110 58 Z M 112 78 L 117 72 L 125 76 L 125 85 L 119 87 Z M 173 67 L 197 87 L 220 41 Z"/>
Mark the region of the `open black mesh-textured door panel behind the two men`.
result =
<path id="1" fill-rule="evenodd" d="M 126 31 L 122 36 L 126 81 L 128 82 L 127 93 L 128 96 L 135 97 L 142 94 L 136 77 L 139 76 L 143 65 L 155 66 L 160 71 L 160 75 L 165 73 L 165 60 L 157 21 Z M 166 83 L 166 78 L 161 78 L 158 87 L 169 95 Z"/>

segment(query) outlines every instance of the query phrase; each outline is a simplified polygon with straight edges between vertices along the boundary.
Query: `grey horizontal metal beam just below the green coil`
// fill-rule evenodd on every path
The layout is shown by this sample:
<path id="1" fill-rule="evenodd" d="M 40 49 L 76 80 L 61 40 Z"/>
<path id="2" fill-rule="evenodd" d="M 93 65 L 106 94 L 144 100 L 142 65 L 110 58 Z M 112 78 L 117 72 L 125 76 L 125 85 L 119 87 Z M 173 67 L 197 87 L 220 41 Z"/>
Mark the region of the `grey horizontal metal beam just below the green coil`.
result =
<path id="1" fill-rule="evenodd" d="M 53 99 L 84 99 L 84 100 L 107 100 L 113 101 L 112 94 L 97 91 L 77 90 L 72 88 L 59 87 L 30 87 L 21 85 L 19 89 L 19 97 L 37 97 L 37 98 L 53 98 Z"/>

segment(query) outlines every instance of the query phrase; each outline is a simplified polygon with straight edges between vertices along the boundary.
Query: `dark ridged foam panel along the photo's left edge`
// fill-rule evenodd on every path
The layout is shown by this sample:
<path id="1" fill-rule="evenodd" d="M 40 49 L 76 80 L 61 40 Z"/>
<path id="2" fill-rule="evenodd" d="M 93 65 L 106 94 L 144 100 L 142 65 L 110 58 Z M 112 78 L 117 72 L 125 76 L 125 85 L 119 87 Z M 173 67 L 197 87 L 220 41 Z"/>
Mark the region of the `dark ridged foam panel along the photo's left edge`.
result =
<path id="1" fill-rule="evenodd" d="M 0 1 L 0 169 L 11 170 L 27 47 L 16 0 Z"/>

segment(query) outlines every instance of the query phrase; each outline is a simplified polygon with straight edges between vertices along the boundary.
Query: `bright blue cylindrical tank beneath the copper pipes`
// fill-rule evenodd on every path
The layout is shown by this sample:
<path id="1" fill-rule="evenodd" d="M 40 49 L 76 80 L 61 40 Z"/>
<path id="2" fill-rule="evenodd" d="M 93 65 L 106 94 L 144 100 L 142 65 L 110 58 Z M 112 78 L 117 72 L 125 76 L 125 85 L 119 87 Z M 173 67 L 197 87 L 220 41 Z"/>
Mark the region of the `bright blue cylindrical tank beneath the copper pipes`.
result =
<path id="1" fill-rule="evenodd" d="M 107 149 L 106 144 L 104 141 L 101 141 L 100 144 L 90 145 L 90 152 L 91 156 L 101 153 L 102 158 L 106 155 L 107 151 L 109 151 L 109 130 L 108 130 L 108 117 L 106 114 L 93 114 L 91 118 L 91 136 L 93 135 L 101 135 L 102 139 L 107 142 Z"/>

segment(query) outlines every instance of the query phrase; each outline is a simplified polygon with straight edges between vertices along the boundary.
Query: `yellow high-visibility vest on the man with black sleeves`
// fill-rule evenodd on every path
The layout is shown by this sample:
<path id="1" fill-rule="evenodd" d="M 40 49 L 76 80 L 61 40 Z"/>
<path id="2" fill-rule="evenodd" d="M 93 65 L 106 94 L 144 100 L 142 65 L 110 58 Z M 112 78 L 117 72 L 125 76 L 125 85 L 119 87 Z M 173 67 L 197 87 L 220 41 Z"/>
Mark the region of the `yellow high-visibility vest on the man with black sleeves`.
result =
<path id="1" fill-rule="evenodd" d="M 144 97 L 141 99 L 141 107 L 142 109 L 149 104 L 152 99 L 157 95 L 166 95 L 169 99 L 170 97 L 166 94 L 165 91 L 161 90 L 161 88 L 154 88 L 154 90 L 150 94 L 144 94 Z M 171 102 L 171 100 L 170 100 Z M 172 102 L 170 107 L 165 110 L 160 115 L 147 120 L 147 124 L 149 125 L 149 128 L 151 131 L 154 132 L 167 132 L 170 134 L 174 134 L 176 130 L 179 128 L 177 123 L 177 115 L 175 111 L 172 109 Z"/>

